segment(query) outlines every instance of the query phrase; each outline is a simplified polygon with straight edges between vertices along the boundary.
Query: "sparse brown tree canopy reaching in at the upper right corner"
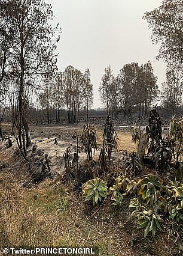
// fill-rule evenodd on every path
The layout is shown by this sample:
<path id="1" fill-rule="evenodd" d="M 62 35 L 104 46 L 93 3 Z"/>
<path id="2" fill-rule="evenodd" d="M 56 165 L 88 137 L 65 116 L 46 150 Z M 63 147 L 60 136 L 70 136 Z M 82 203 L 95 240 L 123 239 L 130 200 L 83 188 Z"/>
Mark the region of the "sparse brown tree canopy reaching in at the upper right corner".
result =
<path id="1" fill-rule="evenodd" d="M 183 1 L 163 0 L 160 7 L 145 13 L 152 40 L 160 44 L 158 58 L 183 62 Z"/>

